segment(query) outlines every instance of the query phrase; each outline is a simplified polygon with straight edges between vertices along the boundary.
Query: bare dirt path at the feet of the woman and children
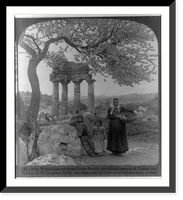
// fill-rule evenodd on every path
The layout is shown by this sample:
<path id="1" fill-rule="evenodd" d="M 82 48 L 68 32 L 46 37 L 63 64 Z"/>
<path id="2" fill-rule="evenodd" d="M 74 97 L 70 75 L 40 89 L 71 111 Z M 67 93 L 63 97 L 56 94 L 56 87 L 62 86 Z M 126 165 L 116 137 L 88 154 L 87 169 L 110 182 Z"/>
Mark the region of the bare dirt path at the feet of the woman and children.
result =
<path id="1" fill-rule="evenodd" d="M 77 165 L 156 165 L 159 161 L 157 142 L 138 141 L 129 138 L 129 151 L 123 157 L 111 156 L 106 151 L 103 156 L 75 158 Z"/>

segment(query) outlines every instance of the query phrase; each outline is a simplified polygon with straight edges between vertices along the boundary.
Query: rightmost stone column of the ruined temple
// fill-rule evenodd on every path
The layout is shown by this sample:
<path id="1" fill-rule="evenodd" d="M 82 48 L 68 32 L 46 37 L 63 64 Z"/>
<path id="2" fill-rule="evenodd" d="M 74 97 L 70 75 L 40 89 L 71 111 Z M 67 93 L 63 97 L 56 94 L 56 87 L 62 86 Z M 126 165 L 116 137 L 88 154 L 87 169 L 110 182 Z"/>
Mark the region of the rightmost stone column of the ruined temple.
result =
<path id="1" fill-rule="evenodd" d="M 94 97 L 94 82 L 95 79 L 86 80 L 88 82 L 88 108 L 91 112 L 95 109 L 95 97 Z"/>

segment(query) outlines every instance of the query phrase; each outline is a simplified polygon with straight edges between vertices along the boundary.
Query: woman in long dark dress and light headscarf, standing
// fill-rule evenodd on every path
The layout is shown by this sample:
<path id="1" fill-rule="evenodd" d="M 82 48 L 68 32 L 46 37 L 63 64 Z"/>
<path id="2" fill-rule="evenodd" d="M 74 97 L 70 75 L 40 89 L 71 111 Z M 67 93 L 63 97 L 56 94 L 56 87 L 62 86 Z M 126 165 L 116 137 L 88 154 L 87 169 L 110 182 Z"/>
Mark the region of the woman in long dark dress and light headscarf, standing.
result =
<path id="1" fill-rule="evenodd" d="M 128 138 L 126 134 L 126 124 L 123 122 L 124 112 L 134 113 L 132 110 L 119 106 L 117 98 L 113 99 L 113 105 L 108 109 L 109 132 L 107 150 L 112 155 L 122 156 L 122 153 L 128 151 Z"/>

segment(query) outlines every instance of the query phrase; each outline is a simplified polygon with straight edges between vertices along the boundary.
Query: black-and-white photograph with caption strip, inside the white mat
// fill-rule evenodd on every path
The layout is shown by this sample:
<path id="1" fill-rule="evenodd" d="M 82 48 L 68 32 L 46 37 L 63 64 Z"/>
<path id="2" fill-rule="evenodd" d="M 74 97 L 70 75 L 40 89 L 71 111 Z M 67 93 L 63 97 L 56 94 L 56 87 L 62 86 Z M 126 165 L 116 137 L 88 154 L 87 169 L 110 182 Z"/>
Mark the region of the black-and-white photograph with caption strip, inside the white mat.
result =
<path id="1" fill-rule="evenodd" d="M 160 176 L 161 16 L 15 16 L 16 176 Z"/>

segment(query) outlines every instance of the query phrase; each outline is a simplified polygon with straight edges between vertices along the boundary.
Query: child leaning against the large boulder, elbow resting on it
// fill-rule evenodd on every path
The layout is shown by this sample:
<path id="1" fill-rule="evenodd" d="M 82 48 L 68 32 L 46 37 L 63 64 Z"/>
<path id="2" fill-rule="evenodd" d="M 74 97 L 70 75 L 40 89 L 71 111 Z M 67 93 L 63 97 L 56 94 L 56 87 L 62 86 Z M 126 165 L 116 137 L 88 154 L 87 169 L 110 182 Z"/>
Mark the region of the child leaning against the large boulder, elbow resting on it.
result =
<path id="1" fill-rule="evenodd" d="M 93 144 L 91 142 L 91 133 L 88 126 L 83 121 L 83 116 L 78 115 L 77 119 L 69 123 L 70 126 L 74 126 L 77 129 L 77 136 L 81 140 L 81 144 L 89 156 L 94 157 Z"/>

